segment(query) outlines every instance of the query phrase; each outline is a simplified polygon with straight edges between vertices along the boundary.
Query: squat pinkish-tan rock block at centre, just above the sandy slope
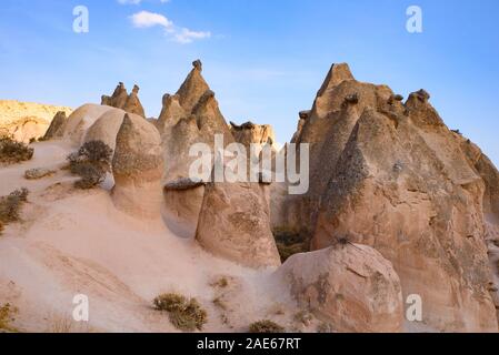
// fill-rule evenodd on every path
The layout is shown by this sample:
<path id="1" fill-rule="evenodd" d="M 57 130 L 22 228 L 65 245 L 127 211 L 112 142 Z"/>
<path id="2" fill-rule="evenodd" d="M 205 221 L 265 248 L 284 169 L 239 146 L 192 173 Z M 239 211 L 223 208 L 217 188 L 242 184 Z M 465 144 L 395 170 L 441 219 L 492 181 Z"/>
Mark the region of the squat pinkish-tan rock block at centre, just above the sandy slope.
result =
<path id="1" fill-rule="evenodd" d="M 280 265 L 268 202 L 259 184 L 208 184 L 196 239 L 216 256 L 244 266 Z"/>

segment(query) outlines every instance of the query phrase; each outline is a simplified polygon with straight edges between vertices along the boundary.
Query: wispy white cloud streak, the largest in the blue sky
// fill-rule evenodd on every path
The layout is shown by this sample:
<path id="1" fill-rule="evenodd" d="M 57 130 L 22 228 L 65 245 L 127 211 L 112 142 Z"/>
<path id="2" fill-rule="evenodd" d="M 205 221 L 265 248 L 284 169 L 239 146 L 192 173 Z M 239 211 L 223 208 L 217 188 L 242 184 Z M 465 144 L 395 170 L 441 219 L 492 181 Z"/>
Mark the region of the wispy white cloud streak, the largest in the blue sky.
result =
<path id="1" fill-rule="evenodd" d="M 119 1 L 140 1 L 140 0 L 119 0 Z M 161 0 L 169 1 L 169 0 Z M 149 12 L 140 11 L 130 17 L 130 20 L 136 28 L 151 28 L 151 27 L 162 27 L 166 33 L 172 41 L 188 44 L 196 40 L 203 40 L 211 38 L 211 32 L 209 31 L 192 31 L 188 28 L 177 28 L 173 21 L 170 21 L 167 17 Z"/>

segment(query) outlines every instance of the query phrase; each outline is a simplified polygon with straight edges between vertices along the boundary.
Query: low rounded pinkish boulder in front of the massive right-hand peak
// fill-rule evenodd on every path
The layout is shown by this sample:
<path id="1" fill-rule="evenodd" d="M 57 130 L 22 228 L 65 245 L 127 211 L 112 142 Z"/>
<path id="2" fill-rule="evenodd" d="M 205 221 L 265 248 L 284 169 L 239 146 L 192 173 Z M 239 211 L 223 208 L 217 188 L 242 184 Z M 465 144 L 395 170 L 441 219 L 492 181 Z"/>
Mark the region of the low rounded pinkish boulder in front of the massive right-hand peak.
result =
<path id="1" fill-rule="evenodd" d="M 376 250 L 337 244 L 291 256 L 275 274 L 289 286 L 299 306 L 330 323 L 335 332 L 402 331 L 399 276 Z"/>

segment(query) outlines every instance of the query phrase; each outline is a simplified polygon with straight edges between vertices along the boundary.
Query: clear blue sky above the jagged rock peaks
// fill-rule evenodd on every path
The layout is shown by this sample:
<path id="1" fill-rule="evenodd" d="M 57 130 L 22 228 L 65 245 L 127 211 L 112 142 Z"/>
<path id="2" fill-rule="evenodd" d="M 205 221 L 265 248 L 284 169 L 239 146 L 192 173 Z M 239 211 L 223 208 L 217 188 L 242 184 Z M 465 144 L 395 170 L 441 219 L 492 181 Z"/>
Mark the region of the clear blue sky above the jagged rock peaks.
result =
<path id="1" fill-rule="evenodd" d="M 84 34 L 72 31 L 80 4 Z M 412 4 L 422 33 L 406 30 Z M 133 23 L 141 11 L 157 26 Z M 2 0 L 0 98 L 78 106 L 123 81 L 157 116 L 200 58 L 226 119 L 270 123 L 285 142 L 330 64 L 348 62 L 406 97 L 425 88 L 499 164 L 498 17 L 497 0 Z"/>

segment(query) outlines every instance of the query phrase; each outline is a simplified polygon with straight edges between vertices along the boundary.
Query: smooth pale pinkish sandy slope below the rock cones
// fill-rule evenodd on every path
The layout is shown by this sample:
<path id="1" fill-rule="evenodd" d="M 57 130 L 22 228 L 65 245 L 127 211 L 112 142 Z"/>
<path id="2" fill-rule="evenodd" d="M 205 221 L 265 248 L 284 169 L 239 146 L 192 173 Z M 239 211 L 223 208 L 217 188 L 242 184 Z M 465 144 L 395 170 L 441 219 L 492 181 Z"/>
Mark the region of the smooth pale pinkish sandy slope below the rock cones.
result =
<path id="1" fill-rule="evenodd" d="M 0 236 L 0 304 L 19 307 L 19 328 L 44 332 L 64 324 L 71 331 L 173 332 L 168 317 L 151 308 L 156 295 L 170 291 L 198 297 L 209 313 L 206 331 L 246 331 L 260 318 L 291 325 L 297 310 L 270 284 L 272 270 L 218 260 L 161 220 L 122 214 L 109 191 L 73 190 L 67 171 L 24 180 L 27 169 L 61 166 L 70 151 L 53 142 L 33 146 L 32 161 L 0 169 L 1 195 L 21 186 L 31 191 L 23 222 Z M 229 276 L 227 288 L 210 285 L 220 275 Z M 79 293 L 90 298 L 90 324 L 71 321 Z M 227 311 L 213 305 L 219 296 Z"/>

